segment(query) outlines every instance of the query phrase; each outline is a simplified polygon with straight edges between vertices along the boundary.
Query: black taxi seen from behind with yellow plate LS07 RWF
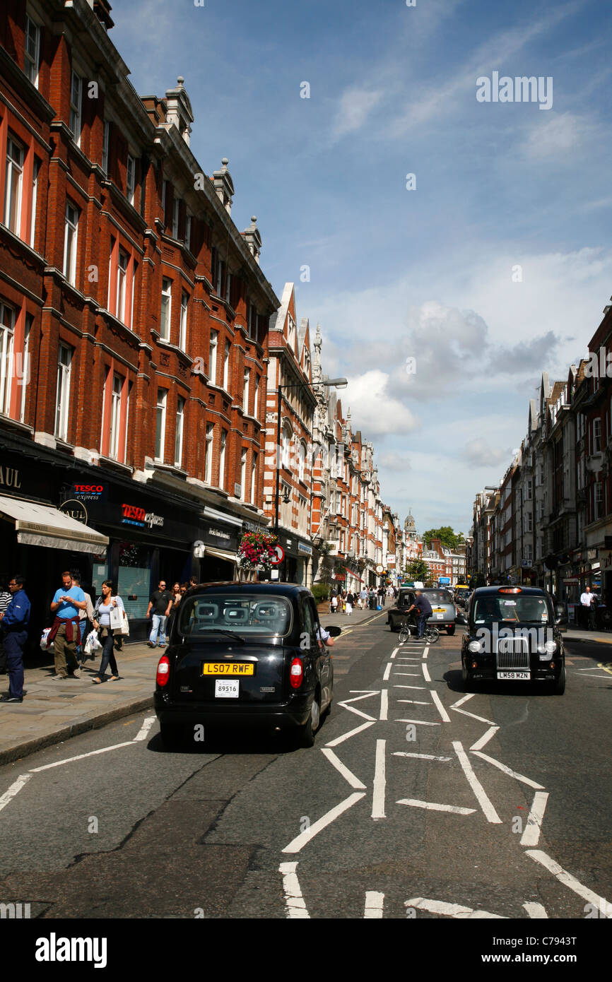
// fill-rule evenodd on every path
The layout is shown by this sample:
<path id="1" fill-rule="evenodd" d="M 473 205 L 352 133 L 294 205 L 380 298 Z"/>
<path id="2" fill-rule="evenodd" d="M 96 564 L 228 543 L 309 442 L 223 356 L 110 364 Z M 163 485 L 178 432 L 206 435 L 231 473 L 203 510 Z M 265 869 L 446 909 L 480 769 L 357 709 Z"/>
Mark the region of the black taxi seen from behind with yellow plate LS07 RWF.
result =
<path id="1" fill-rule="evenodd" d="M 304 586 L 228 582 L 190 590 L 157 667 L 154 705 L 164 742 L 176 744 L 201 724 L 280 728 L 311 746 L 333 698 L 331 650 L 318 628 Z"/>

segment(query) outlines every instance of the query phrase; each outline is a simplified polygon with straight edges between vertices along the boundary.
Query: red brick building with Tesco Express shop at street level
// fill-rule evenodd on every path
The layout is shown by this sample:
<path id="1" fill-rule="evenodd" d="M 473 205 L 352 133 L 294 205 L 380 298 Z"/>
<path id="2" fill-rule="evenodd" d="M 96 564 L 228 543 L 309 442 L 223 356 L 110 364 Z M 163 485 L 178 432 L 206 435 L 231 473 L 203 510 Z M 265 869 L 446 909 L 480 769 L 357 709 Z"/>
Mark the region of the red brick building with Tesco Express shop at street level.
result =
<path id="1" fill-rule="evenodd" d="M 190 149 L 183 80 L 140 98 L 111 27 L 104 0 L 8 0 L 0 21 L 0 497 L 44 506 L 52 547 L 3 522 L 0 573 L 35 576 L 47 610 L 61 570 L 110 576 L 143 627 L 159 576 L 232 578 L 266 523 L 279 300 L 227 160 L 205 175 Z"/>

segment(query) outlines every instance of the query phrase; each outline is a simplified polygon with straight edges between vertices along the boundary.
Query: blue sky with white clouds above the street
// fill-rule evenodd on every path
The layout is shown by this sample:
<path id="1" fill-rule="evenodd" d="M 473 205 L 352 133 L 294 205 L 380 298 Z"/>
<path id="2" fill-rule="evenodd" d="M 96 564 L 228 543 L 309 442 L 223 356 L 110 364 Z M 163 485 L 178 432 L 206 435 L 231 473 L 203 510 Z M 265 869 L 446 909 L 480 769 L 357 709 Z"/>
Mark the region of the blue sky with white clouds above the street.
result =
<path id="1" fill-rule="evenodd" d="M 385 501 L 468 532 L 541 372 L 566 378 L 612 294 L 612 7 L 115 0 L 112 16 L 140 94 L 184 76 L 195 156 L 209 174 L 229 158 L 232 217 L 257 216 L 277 296 L 295 282 L 320 322 Z M 552 78 L 552 106 L 478 102 L 493 72 Z"/>

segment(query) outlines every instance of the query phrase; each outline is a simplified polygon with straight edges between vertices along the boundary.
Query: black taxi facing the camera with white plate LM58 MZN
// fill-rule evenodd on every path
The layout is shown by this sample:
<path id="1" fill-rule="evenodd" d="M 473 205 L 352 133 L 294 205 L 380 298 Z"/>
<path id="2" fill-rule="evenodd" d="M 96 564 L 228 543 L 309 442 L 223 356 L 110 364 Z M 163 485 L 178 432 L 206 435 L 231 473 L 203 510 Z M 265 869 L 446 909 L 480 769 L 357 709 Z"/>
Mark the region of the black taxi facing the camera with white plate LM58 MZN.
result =
<path id="1" fill-rule="evenodd" d="M 565 691 L 565 652 L 555 610 L 544 590 L 481 586 L 473 591 L 461 651 L 468 690 L 478 682 L 537 682 Z"/>

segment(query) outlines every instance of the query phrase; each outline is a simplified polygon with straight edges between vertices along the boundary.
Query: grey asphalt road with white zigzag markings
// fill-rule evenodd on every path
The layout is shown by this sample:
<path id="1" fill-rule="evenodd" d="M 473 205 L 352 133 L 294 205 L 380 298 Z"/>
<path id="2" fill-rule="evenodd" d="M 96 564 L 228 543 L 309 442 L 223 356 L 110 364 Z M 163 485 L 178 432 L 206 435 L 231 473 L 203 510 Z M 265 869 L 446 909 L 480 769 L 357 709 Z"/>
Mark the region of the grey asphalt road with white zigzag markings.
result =
<path id="1" fill-rule="evenodd" d="M 0 768 L 0 901 L 43 919 L 612 914 L 607 649 L 567 646 L 564 696 L 468 695 L 459 633 L 399 647 L 385 619 L 337 640 L 311 749 L 169 752 L 147 713 Z"/>

